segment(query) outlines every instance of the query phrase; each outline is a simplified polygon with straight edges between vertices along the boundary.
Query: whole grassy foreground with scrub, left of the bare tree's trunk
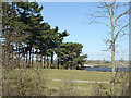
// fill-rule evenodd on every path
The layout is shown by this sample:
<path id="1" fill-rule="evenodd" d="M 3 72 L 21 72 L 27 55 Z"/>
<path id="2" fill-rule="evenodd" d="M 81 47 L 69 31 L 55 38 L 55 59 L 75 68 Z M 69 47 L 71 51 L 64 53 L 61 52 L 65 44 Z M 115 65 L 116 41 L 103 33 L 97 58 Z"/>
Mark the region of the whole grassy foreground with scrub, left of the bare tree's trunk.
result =
<path id="1" fill-rule="evenodd" d="M 55 82 L 53 79 L 110 82 L 110 72 L 13 69 L 3 70 L 5 96 L 91 96 L 106 95 L 109 83 Z M 99 94 L 100 90 L 100 94 Z"/>

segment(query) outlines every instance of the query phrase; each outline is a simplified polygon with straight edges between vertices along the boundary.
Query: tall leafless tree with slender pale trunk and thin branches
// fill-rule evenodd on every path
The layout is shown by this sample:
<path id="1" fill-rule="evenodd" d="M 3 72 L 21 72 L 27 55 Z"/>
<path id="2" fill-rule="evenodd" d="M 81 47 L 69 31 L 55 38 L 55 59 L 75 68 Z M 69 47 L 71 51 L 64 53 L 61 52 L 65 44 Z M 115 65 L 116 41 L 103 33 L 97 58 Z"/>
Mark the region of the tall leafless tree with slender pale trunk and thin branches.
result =
<path id="1" fill-rule="evenodd" d="M 110 2 L 100 2 L 96 12 L 87 14 L 90 16 L 90 24 L 99 23 L 110 30 L 110 38 L 106 39 L 105 42 L 108 46 L 107 50 L 111 50 L 111 96 L 115 96 L 115 53 L 117 48 L 118 39 L 127 35 L 127 27 L 129 26 L 128 14 L 131 9 L 129 8 L 129 2 L 116 2 L 111 0 Z M 105 19 L 106 22 L 103 22 Z"/>

